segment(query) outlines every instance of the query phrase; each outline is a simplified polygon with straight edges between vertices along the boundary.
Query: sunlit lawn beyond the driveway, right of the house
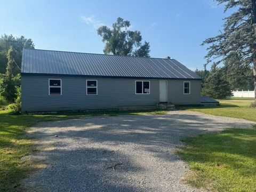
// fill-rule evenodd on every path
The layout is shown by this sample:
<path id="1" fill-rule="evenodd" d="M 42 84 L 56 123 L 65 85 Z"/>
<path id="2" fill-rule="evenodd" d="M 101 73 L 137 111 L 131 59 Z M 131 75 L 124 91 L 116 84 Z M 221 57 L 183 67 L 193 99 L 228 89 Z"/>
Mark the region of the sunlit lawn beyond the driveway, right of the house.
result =
<path id="1" fill-rule="evenodd" d="M 220 106 L 179 107 L 181 110 L 199 111 L 211 115 L 243 118 L 256 122 L 256 108 L 250 107 L 253 100 L 219 100 Z"/>

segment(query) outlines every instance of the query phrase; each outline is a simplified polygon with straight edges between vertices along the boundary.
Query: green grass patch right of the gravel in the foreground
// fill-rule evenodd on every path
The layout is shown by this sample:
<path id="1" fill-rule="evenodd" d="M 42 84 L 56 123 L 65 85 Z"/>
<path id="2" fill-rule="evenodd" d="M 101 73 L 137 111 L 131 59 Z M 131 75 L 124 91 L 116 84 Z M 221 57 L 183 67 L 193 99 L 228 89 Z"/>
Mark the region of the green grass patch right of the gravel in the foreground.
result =
<path id="1" fill-rule="evenodd" d="M 226 129 L 182 139 L 178 150 L 192 173 L 186 181 L 213 191 L 255 191 L 256 129 Z"/>

